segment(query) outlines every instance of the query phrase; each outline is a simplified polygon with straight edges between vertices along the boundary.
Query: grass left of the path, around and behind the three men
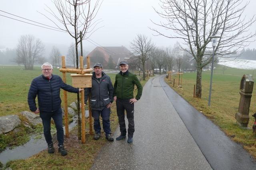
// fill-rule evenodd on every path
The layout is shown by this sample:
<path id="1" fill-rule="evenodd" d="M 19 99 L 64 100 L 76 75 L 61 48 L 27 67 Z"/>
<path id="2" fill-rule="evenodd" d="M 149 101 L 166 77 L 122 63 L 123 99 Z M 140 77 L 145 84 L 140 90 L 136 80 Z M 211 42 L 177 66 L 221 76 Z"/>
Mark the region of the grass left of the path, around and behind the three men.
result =
<path id="1" fill-rule="evenodd" d="M 27 94 L 30 83 L 34 77 L 41 74 L 41 70 L 40 67 L 35 67 L 35 70 L 21 70 L 22 68 L 22 66 L 4 66 L 4 68 L 0 69 L 0 116 L 29 111 Z M 62 76 L 62 73 L 57 69 L 54 70 L 53 74 Z M 67 84 L 72 84 L 69 75 L 70 74 L 67 75 Z M 114 82 L 115 74 L 108 75 L 112 82 Z M 142 86 L 144 86 L 146 81 L 147 79 L 144 81 L 141 80 Z M 136 92 L 137 90 L 135 90 L 135 94 Z M 63 94 L 61 93 L 61 95 Z M 74 101 L 76 101 L 76 94 L 68 93 L 68 105 Z M 115 102 L 111 110 L 111 129 L 112 132 L 114 132 L 118 126 Z M 89 120 L 86 119 L 86 144 L 81 144 L 78 140 L 76 128 L 70 132 L 70 138 L 65 138 L 64 145 L 68 150 L 67 156 L 61 156 L 57 151 L 57 143 L 54 143 L 56 149 L 54 154 L 48 154 L 47 150 L 43 150 L 28 159 L 10 161 L 7 163 L 7 166 L 12 169 L 89 169 L 100 148 L 108 141 L 104 138 L 103 130 L 102 138 L 98 141 L 93 140 L 93 137 L 89 135 L 88 122 Z M 42 131 L 42 127 L 35 129 L 35 131 Z M 13 133 L 12 135 L 12 132 L 10 132 L 6 135 L 0 135 L 0 143 L 10 144 L 10 140 L 6 140 L 6 137 L 13 141 L 22 139 L 22 143 L 25 143 L 29 139 L 29 133 L 31 133 L 31 130 L 28 132 L 23 131 L 22 134 Z M 15 145 L 20 144 L 21 143 Z"/>

